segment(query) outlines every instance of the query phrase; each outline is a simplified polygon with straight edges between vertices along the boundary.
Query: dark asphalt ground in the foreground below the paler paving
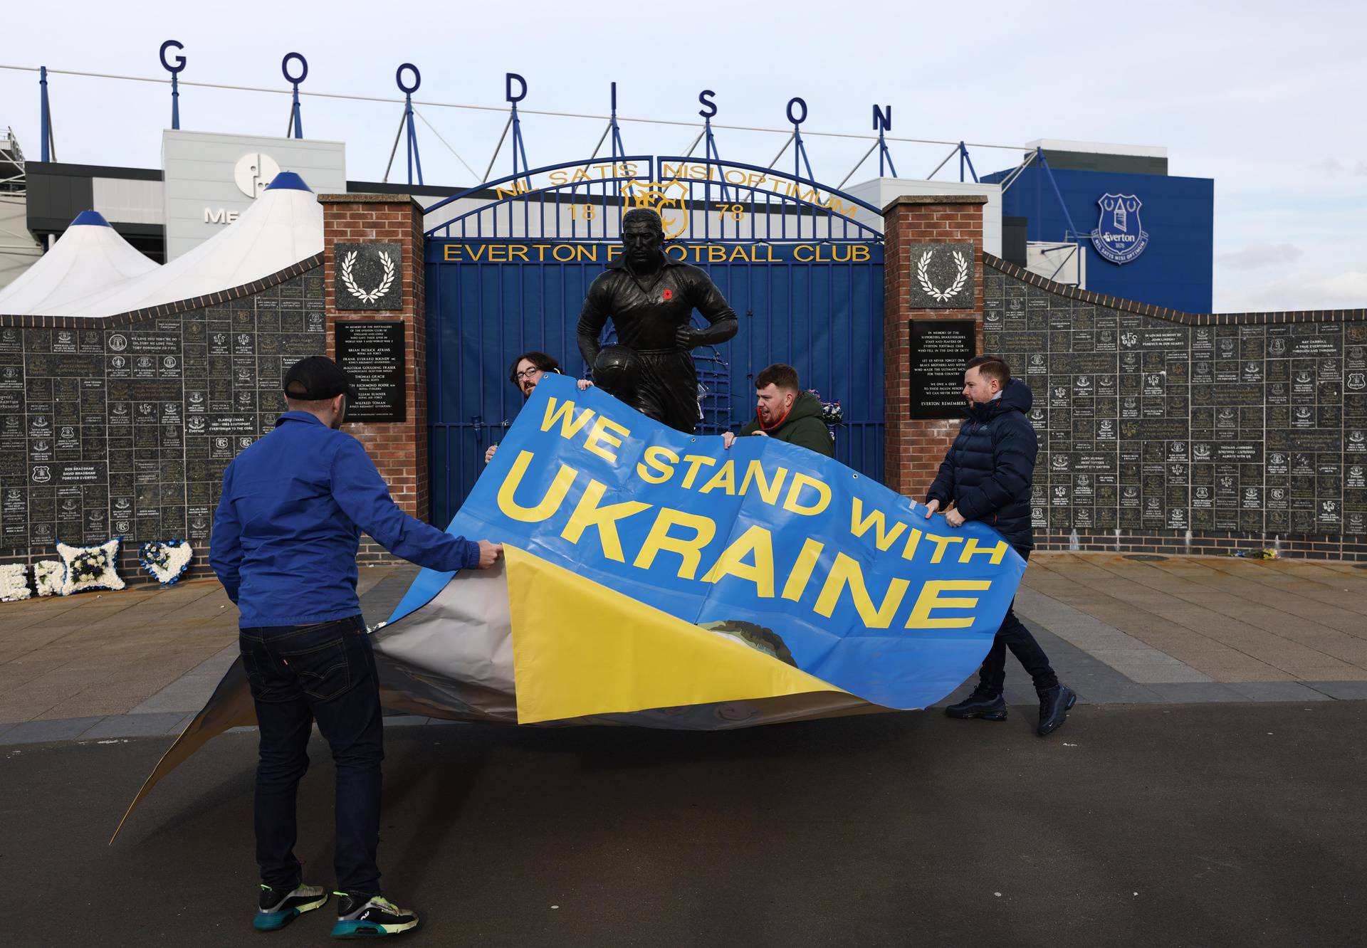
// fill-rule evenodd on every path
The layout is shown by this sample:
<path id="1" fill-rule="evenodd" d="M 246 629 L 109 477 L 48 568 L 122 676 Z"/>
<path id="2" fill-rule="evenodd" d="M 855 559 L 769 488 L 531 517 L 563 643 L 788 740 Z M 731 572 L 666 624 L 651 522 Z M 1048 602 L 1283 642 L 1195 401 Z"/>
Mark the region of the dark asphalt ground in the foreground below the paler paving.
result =
<path id="1" fill-rule="evenodd" d="M 381 869 L 410 945 L 1351 945 L 1367 702 L 1079 705 L 1051 738 L 938 712 L 735 732 L 387 731 Z M 327 940 L 250 928 L 254 734 L 0 747 L 7 945 Z M 331 884 L 332 768 L 299 798 Z"/>

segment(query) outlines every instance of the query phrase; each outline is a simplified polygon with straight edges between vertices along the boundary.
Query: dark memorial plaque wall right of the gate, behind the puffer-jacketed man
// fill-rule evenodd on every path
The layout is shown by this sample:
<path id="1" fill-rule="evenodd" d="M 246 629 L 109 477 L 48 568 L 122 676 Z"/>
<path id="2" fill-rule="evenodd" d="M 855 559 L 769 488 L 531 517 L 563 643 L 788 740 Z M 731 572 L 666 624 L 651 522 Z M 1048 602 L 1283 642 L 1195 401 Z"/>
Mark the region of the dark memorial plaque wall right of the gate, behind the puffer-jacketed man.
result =
<path id="1" fill-rule="evenodd" d="M 986 262 L 983 351 L 1035 396 L 1042 546 L 1367 559 L 1367 313 L 1192 316 Z"/>

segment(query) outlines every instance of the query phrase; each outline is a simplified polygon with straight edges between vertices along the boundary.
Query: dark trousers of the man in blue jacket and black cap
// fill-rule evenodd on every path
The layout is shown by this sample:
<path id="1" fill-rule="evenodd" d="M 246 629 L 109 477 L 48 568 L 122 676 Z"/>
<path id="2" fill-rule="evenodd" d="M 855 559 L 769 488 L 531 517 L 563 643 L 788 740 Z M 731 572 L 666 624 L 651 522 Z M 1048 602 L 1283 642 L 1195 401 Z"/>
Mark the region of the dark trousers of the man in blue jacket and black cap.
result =
<path id="1" fill-rule="evenodd" d="M 294 856 L 295 795 L 309 769 L 309 734 L 317 721 L 336 765 L 336 888 L 377 893 L 384 724 L 365 622 L 353 616 L 314 626 L 243 628 L 238 645 L 261 729 L 256 783 L 261 881 L 275 889 L 301 881 Z"/>

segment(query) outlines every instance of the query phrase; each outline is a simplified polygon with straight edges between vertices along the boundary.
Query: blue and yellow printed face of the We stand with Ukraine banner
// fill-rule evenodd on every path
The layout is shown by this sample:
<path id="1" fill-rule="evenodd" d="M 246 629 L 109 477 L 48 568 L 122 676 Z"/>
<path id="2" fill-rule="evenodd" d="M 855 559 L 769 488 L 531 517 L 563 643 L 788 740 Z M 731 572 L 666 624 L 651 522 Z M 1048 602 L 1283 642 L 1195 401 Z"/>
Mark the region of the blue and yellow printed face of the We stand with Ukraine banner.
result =
<path id="1" fill-rule="evenodd" d="M 1025 570 L 991 527 L 835 460 L 723 449 L 560 376 L 450 531 L 506 544 L 519 723 L 816 693 L 924 708 L 977 668 Z M 420 575 L 391 622 L 451 576 Z"/>

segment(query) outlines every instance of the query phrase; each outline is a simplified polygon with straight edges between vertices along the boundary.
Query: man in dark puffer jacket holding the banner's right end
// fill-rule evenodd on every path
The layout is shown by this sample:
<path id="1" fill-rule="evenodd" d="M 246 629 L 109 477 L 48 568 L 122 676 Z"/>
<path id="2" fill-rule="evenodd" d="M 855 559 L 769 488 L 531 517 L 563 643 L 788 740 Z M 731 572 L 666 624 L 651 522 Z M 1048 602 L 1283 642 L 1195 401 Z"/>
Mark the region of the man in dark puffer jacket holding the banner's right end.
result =
<path id="1" fill-rule="evenodd" d="M 1032 400 L 1029 387 L 1018 378 L 1012 381 L 1012 370 L 1001 359 L 980 355 L 964 372 L 964 398 L 969 417 L 960 426 L 940 463 L 939 475 L 925 493 L 925 516 L 943 508 L 945 522 L 951 527 L 962 526 L 965 520 L 988 523 L 1028 560 L 1035 546 L 1031 535 L 1031 479 L 1039 454 L 1035 429 L 1025 418 Z M 1012 605 L 977 672 L 973 694 L 950 705 L 945 713 L 1005 721 L 1002 686 L 1006 682 L 1006 649 L 1010 647 L 1039 693 L 1036 732 L 1043 738 L 1062 725 L 1077 695 L 1058 683 L 1048 656 L 1016 617 L 1014 602 Z"/>

